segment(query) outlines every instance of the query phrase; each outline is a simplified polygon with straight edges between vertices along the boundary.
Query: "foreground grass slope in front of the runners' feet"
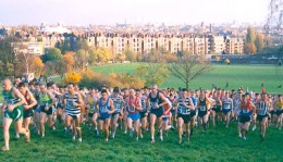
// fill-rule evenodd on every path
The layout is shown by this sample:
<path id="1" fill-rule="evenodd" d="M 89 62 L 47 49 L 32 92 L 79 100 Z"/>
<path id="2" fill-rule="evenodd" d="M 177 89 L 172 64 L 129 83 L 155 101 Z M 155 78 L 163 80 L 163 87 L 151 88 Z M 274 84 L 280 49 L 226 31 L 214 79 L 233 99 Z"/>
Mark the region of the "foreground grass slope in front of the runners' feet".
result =
<path id="1" fill-rule="evenodd" d="M 0 129 L 2 134 L 2 129 Z M 205 134 L 195 130 L 190 146 L 176 144 L 176 132 L 170 132 L 164 141 L 149 142 L 149 133 L 136 141 L 118 132 L 115 139 L 104 142 L 94 132 L 83 126 L 83 142 L 72 141 L 59 130 L 47 130 L 46 138 L 32 135 L 29 144 L 24 137 L 14 140 L 11 130 L 10 151 L 0 152 L 1 161 L 282 161 L 282 135 L 269 127 L 266 141 L 259 140 L 259 130 L 251 132 L 245 141 L 237 137 L 236 125 L 229 129 L 222 123 Z M 1 137 L 0 145 L 3 145 Z"/>

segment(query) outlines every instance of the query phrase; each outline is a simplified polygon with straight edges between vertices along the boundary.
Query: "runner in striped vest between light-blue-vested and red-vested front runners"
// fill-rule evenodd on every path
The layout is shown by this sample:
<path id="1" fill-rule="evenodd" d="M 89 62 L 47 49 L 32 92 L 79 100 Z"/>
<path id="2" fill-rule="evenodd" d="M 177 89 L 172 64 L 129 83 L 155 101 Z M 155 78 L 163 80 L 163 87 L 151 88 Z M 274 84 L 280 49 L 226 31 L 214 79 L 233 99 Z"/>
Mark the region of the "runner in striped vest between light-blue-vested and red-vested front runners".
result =
<path id="1" fill-rule="evenodd" d="M 115 133 L 116 133 L 116 127 L 118 127 L 118 120 L 121 116 L 123 116 L 123 97 L 120 95 L 120 88 L 114 87 L 113 94 L 110 96 L 110 99 L 114 103 L 115 112 L 112 114 L 112 120 L 111 120 L 111 137 L 115 138 Z"/>

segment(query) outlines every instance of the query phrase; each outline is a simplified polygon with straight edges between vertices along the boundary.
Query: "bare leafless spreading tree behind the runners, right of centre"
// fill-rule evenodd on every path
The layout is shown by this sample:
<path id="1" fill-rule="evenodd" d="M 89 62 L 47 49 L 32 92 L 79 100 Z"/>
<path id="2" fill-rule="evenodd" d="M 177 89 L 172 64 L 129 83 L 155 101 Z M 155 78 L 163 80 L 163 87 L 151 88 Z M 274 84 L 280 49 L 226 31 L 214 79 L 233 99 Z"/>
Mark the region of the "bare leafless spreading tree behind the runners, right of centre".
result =
<path id="1" fill-rule="evenodd" d="M 211 65 L 206 61 L 205 57 L 186 55 L 180 57 L 176 62 L 168 64 L 170 74 L 181 79 L 188 88 L 188 84 L 211 70 Z"/>

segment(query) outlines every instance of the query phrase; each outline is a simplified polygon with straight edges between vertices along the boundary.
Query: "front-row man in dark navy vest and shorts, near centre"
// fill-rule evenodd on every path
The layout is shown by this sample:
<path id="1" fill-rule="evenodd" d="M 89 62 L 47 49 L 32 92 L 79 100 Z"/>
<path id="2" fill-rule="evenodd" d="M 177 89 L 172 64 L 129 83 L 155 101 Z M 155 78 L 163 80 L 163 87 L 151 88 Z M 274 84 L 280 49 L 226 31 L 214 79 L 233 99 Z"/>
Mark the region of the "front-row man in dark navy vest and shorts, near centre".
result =
<path id="1" fill-rule="evenodd" d="M 162 115 L 163 105 L 168 104 L 165 97 L 158 91 L 157 85 L 151 86 L 151 92 L 148 95 L 148 102 L 150 105 L 150 142 L 155 144 L 155 125 L 158 122 L 158 129 L 160 132 L 160 137 L 162 137 Z M 162 139 L 161 139 L 162 140 Z"/>

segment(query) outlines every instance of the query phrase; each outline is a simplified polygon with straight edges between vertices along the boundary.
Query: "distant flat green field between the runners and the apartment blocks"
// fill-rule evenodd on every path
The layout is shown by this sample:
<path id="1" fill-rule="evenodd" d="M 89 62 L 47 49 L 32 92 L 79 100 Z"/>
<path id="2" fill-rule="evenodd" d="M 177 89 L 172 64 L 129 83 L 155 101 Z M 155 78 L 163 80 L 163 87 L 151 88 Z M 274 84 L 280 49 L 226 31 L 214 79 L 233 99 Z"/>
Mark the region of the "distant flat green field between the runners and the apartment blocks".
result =
<path id="1" fill-rule="evenodd" d="M 104 74 L 135 74 L 138 65 L 138 63 L 101 65 L 95 66 L 94 71 Z M 211 71 L 192 80 L 189 88 L 210 89 L 212 84 L 224 88 L 227 82 L 229 90 L 243 86 L 245 89 L 248 87 L 249 90 L 260 91 L 261 83 L 263 83 L 268 92 L 283 92 L 283 88 L 278 88 L 279 85 L 283 84 L 283 66 L 278 68 L 278 74 L 275 72 L 276 68 L 273 65 L 212 65 Z M 185 87 L 185 84 L 176 77 L 170 76 L 160 87 L 177 88 Z"/>

